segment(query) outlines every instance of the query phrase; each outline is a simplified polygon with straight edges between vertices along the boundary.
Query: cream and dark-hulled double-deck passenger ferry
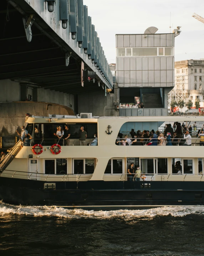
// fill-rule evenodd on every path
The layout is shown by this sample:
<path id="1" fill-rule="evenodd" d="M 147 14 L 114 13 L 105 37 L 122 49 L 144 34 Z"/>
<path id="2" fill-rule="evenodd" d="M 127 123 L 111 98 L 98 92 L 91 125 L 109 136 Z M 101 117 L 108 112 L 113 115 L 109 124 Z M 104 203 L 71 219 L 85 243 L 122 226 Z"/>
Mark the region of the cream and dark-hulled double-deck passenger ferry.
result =
<path id="1" fill-rule="evenodd" d="M 204 147 L 198 132 L 191 146 L 118 146 L 117 136 L 130 128 L 155 131 L 163 124 L 194 122 L 203 116 L 39 117 L 26 119 L 32 136 L 29 146 L 19 140 L 0 163 L 0 200 L 10 204 L 57 206 L 82 209 L 133 209 L 166 205 L 204 204 Z M 37 125 L 40 137 L 35 138 Z M 68 126 L 66 146 L 54 133 Z M 80 146 L 78 132 L 87 132 Z M 98 145 L 90 146 L 98 134 Z M 131 137 L 129 135 L 129 137 Z M 180 161 L 180 173 L 175 164 Z M 147 180 L 128 180 L 128 166 L 139 166 Z M 136 169 L 134 167 L 134 169 Z"/>

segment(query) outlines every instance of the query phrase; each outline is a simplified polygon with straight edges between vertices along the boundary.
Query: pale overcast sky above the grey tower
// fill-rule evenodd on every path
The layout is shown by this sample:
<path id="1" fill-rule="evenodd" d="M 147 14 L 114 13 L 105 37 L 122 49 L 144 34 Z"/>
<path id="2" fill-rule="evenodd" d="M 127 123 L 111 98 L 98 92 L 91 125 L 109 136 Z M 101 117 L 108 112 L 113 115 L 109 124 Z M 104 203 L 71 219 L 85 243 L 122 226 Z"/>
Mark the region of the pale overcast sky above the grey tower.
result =
<path id="1" fill-rule="evenodd" d="M 204 0 L 83 0 L 83 4 L 109 64 L 116 62 L 115 34 L 143 34 L 150 26 L 158 28 L 156 34 L 182 27 L 175 38 L 175 61 L 204 59 L 204 23 L 192 17 L 193 13 L 204 17 Z"/>

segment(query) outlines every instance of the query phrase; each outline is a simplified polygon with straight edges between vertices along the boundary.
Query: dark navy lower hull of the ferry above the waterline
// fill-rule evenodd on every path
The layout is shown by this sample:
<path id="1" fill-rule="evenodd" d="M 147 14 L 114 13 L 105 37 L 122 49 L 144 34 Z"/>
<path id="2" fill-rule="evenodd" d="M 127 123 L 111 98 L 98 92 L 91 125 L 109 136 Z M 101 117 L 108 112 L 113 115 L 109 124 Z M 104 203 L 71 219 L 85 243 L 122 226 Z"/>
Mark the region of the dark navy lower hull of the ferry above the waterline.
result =
<path id="1" fill-rule="evenodd" d="M 50 188 L 44 188 L 44 184 Z M 203 205 L 202 182 L 44 182 L 0 177 L 0 200 L 9 204 L 82 209 L 136 209 Z"/>

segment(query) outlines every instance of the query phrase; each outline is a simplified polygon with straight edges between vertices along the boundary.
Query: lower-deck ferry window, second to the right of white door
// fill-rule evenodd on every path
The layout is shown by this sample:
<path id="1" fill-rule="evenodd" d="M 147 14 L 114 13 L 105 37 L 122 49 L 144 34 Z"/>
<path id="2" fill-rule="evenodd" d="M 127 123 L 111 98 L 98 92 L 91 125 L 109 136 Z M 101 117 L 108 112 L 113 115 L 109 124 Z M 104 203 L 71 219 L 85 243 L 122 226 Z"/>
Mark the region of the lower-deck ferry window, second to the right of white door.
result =
<path id="1" fill-rule="evenodd" d="M 95 158 L 73 159 L 73 174 L 93 174 Z"/>

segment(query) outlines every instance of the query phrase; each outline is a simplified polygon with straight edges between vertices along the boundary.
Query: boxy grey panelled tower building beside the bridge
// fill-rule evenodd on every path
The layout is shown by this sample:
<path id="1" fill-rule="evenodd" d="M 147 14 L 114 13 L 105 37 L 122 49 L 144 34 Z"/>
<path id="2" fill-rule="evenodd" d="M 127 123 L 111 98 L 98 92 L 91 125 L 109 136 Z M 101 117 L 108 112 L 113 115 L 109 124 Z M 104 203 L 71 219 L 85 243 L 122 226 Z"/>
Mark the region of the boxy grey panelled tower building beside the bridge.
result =
<path id="1" fill-rule="evenodd" d="M 179 31 L 155 34 L 157 30 L 150 27 L 144 34 L 116 35 L 120 116 L 168 114 L 168 93 L 174 87 L 174 38 Z M 137 108 L 136 97 L 144 108 Z"/>

